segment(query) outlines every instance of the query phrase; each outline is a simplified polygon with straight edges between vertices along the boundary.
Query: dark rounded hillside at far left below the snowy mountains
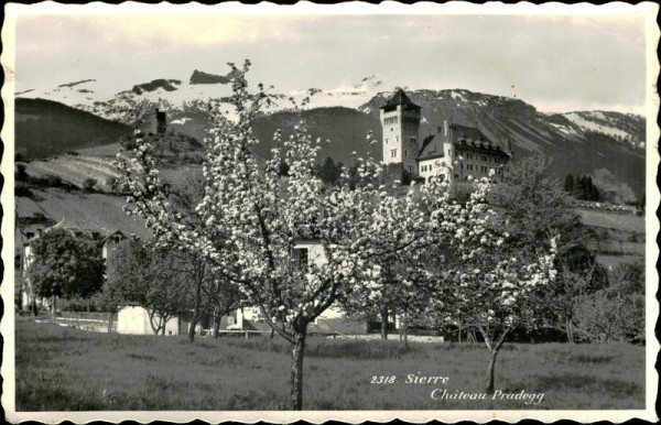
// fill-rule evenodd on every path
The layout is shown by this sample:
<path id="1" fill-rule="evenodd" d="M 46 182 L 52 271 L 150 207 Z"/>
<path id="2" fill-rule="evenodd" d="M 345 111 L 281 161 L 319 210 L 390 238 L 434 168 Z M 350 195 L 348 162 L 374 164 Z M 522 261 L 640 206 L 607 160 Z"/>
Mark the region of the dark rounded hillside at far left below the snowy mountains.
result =
<path id="1" fill-rule="evenodd" d="M 44 99 L 15 99 L 15 152 L 41 159 L 117 142 L 126 124 Z"/>

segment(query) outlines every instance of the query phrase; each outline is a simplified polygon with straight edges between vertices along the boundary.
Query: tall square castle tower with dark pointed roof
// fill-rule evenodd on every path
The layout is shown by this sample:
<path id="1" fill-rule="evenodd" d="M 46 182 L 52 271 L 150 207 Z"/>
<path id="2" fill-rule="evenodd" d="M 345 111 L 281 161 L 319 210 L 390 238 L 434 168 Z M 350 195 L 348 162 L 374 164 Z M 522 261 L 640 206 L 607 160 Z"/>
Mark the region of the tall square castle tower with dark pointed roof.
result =
<path id="1" fill-rule="evenodd" d="M 420 109 L 401 88 L 380 108 L 383 164 L 401 163 L 403 170 L 412 175 L 418 174 L 415 157 L 420 150 Z"/>

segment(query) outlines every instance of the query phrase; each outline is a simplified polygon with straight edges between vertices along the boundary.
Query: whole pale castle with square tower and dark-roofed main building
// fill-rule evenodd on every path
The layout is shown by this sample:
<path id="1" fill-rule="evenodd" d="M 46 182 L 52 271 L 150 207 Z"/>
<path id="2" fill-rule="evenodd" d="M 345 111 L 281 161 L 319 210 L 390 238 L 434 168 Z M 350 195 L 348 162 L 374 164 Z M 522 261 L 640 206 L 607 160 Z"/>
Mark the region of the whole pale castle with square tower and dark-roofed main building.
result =
<path id="1" fill-rule="evenodd" d="M 384 165 L 401 165 L 412 178 L 440 175 L 451 183 L 487 176 L 491 168 L 501 174 L 511 148 L 505 152 L 477 127 L 447 121 L 420 142 L 421 109 L 401 88 L 380 108 Z"/>

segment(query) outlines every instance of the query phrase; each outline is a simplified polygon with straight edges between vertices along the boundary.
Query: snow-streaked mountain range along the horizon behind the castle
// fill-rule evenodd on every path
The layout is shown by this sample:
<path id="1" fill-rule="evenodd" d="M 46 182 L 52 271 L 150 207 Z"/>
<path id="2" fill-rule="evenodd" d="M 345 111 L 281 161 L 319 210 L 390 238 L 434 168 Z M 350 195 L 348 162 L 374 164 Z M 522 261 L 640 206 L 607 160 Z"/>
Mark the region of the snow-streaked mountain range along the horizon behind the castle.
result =
<path id="1" fill-rule="evenodd" d="M 106 92 L 101 81 L 84 79 L 51 90 L 26 90 L 17 97 L 45 98 L 129 124 L 141 118 L 149 129 L 155 129 L 153 110 L 159 108 L 166 112 L 171 131 L 201 141 L 208 135 L 210 99 L 231 118 L 229 77 L 194 70 L 187 79 L 159 78 L 115 94 Z M 310 113 L 304 117 L 313 135 L 339 143 L 328 145 L 323 154 L 346 163 L 357 143 L 365 140 L 365 130 L 373 130 L 380 140 L 379 108 L 394 88 L 373 75 L 346 88 L 271 92 L 274 105 L 254 128 L 260 153 L 269 154 L 273 131 L 300 120 L 302 116 L 289 112 L 305 105 Z M 543 113 L 520 99 L 466 89 L 407 89 L 407 94 L 422 107 L 421 140 L 436 133 L 446 120 L 477 126 L 503 149 L 509 151 L 511 145 L 516 156 L 541 153 L 553 157 L 559 178 L 568 172 L 587 174 L 605 167 L 637 193 L 644 187 L 643 117 L 609 111 Z M 373 153 L 381 154 L 380 150 Z"/>

